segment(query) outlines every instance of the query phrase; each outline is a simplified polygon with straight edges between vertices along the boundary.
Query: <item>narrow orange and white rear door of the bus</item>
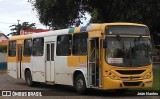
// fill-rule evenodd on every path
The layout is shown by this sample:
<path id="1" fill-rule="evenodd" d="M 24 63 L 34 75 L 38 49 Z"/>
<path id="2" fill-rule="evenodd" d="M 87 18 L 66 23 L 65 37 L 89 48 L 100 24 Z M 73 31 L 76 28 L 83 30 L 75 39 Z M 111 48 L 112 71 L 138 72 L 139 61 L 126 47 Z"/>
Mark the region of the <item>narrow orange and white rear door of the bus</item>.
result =
<path id="1" fill-rule="evenodd" d="M 22 73 L 22 45 L 17 45 L 18 47 L 18 67 L 17 67 L 17 77 L 21 78 L 21 73 Z"/>

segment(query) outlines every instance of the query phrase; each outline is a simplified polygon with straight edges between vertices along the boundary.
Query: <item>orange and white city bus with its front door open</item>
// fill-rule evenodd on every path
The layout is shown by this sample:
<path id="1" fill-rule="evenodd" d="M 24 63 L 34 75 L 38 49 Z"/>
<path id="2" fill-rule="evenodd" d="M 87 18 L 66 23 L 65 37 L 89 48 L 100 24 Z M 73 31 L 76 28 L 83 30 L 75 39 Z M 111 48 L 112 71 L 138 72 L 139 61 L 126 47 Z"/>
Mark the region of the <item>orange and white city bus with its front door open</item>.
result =
<path id="1" fill-rule="evenodd" d="M 10 37 L 7 72 L 28 86 L 70 85 L 78 93 L 151 88 L 151 52 L 146 25 L 91 24 Z"/>

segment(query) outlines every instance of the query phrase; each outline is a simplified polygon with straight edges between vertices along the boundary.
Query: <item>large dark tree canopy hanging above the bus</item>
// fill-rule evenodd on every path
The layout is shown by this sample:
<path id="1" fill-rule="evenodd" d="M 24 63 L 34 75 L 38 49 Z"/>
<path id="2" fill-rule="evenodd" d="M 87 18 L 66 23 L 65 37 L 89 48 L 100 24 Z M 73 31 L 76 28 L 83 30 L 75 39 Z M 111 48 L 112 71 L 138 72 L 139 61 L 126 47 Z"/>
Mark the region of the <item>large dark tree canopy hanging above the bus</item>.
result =
<path id="1" fill-rule="evenodd" d="M 44 25 L 56 28 L 72 26 L 75 19 L 91 14 L 91 21 L 134 22 L 146 24 L 156 37 L 160 32 L 159 0 L 29 0 Z"/>

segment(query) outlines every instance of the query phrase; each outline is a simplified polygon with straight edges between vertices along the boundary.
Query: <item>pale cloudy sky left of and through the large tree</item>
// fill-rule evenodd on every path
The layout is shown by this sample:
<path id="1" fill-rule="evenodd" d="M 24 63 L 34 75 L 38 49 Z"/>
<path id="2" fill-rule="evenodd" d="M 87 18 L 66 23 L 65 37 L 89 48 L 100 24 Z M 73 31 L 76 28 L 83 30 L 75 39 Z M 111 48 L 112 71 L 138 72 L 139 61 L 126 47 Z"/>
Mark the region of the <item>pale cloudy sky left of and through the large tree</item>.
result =
<path id="1" fill-rule="evenodd" d="M 4 34 L 11 33 L 9 26 L 13 24 L 29 22 L 36 23 L 37 28 L 47 29 L 48 27 L 39 22 L 36 10 L 27 2 L 28 0 L 0 0 L 0 32 Z M 89 21 L 89 15 L 83 25 Z"/>

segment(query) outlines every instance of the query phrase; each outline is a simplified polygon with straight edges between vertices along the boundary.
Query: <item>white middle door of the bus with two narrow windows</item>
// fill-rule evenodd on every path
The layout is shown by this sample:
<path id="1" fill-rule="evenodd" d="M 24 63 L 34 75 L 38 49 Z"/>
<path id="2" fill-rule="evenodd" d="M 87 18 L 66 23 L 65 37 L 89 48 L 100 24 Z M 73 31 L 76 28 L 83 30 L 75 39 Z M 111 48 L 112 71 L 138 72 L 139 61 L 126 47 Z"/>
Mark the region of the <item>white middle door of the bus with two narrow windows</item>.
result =
<path id="1" fill-rule="evenodd" d="M 46 43 L 46 68 L 47 82 L 54 82 L 54 42 Z"/>

